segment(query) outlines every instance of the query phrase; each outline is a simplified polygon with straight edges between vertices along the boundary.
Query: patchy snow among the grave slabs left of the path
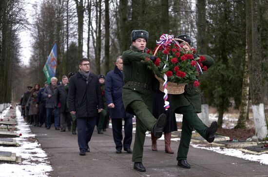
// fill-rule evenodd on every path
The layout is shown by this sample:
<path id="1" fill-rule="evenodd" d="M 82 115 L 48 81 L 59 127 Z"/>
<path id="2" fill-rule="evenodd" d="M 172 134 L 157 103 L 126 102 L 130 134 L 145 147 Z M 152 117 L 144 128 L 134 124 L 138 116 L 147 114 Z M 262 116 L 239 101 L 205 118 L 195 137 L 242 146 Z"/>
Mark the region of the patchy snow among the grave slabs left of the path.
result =
<path id="1" fill-rule="evenodd" d="M 4 116 L 8 112 L 7 108 L 2 112 Z M 29 125 L 24 122 L 21 117 L 19 107 L 16 107 L 16 116 L 18 120 L 18 133 L 22 135 L 19 138 L 14 138 L 19 147 L 3 147 L 0 146 L 0 151 L 9 151 L 16 153 L 16 156 L 22 157 L 21 163 L 1 163 L 0 177 L 48 177 L 49 172 L 52 171 L 52 166 L 48 161 L 48 157 L 42 150 L 40 144 L 31 132 Z"/>

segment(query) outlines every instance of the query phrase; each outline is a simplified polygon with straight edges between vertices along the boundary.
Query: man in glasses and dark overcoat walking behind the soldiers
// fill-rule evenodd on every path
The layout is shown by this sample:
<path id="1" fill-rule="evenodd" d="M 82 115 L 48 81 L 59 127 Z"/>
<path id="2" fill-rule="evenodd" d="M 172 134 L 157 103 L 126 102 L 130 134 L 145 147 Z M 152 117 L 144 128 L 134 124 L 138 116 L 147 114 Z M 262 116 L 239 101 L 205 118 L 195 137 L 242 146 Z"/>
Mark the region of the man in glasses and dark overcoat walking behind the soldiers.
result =
<path id="1" fill-rule="evenodd" d="M 77 137 L 80 156 L 90 152 L 97 114 L 103 110 L 100 85 L 97 76 L 90 72 L 90 63 L 80 59 L 78 73 L 71 77 L 69 86 L 69 111 L 77 117 Z"/>

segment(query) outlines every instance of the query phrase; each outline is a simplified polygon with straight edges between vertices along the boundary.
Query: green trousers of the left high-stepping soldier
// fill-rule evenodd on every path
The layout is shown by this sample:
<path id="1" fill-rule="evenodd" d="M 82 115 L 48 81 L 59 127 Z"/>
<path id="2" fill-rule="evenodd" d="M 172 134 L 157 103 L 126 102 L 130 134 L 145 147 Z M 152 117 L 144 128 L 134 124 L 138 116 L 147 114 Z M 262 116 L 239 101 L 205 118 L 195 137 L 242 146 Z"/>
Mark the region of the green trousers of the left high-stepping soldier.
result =
<path id="1" fill-rule="evenodd" d="M 143 101 L 136 100 L 130 106 L 136 115 L 136 133 L 132 161 L 142 162 L 145 133 L 147 130 L 153 131 L 153 126 L 157 119 L 152 115 L 152 103 L 145 104 Z"/>

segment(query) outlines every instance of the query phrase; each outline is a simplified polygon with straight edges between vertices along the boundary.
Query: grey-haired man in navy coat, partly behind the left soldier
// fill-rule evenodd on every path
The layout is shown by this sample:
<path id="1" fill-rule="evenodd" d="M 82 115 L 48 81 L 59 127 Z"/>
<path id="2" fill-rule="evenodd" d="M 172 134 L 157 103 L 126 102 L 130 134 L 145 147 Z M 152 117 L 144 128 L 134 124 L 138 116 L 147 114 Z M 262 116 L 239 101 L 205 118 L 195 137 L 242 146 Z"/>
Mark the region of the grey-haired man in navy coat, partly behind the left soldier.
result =
<path id="1" fill-rule="evenodd" d="M 122 147 L 124 151 L 132 154 L 130 148 L 132 142 L 132 118 L 133 115 L 126 113 L 123 99 L 122 87 L 125 85 L 123 80 L 123 60 L 119 56 L 115 62 L 115 69 L 107 73 L 105 85 L 105 97 L 110 108 L 110 117 L 112 119 L 113 137 L 115 141 L 116 153 L 120 154 Z M 122 119 L 124 119 L 125 138 L 122 145 Z"/>

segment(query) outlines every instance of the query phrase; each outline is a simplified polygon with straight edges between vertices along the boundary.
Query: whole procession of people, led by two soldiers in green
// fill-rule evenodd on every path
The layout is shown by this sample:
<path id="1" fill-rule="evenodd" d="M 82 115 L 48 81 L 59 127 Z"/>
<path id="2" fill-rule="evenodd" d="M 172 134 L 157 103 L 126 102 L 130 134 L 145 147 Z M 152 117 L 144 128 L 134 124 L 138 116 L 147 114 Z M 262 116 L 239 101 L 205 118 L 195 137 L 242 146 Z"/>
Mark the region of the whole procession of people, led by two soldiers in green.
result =
<path id="1" fill-rule="evenodd" d="M 28 86 L 21 98 L 25 120 L 34 126 L 45 124 L 50 129 L 52 122 L 56 130 L 72 130 L 77 134 L 79 155 L 90 152 L 89 142 L 95 126 L 98 134 L 108 128 L 111 118 L 115 153 L 122 150 L 133 154 L 134 169 L 145 172 L 142 164 L 145 133 L 151 131 L 152 150 L 157 151 L 156 140 L 164 133 L 165 152 L 173 154 L 171 149 L 171 132 L 177 131 L 175 113 L 183 115 L 182 135 L 177 152 L 177 165 L 191 168 L 187 155 L 191 141 L 191 132 L 195 129 L 208 142 L 214 140 L 217 122 L 207 127 L 198 118 L 201 112 L 199 88 L 188 84 L 185 92 L 171 95 L 171 108 L 164 109 L 164 94 L 159 91 L 159 82 L 147 67 L 144 59 L 156 60 L 147 53 L 146 42 L 149 33 L 145 30 L 134 30 L 131 33 L 130 49 L 118 56 L 115 68 L 107 75 L 96 76 L 90 70 L 90 61 L 80 59 L 77 73 L 63 76 L 59 84 L 53 77 L 50 83 L 40 88 Z M 185 51 L 189 51 L 191 38 L 188 35 L 177 36 Z M 187 44 L 187 45 L 186 45 Z M 194 54 L 194 57 L 198 55 Z M 206 56 L 203 65 L 210 67 L 213 59 Z M 136 116 L 134 148 L 131 149 L 133 118 Z M 124 126 L 123 126 L 124 120 Z M 124 127 L 124 138 L 122 129 Z"/>

